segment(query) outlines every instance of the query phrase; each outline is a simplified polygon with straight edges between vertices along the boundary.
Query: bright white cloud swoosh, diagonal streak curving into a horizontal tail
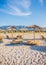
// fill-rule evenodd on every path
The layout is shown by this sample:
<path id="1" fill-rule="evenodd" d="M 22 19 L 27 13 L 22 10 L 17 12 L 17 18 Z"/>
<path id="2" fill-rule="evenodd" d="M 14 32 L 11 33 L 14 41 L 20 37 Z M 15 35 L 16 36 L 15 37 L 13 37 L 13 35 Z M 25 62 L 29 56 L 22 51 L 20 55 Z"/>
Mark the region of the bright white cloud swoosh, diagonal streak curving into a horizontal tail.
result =
<path id="1" fill-rule="evenodd" d="M 26 16 L 26 15 L 31 15 L 32 12 L 22 12 L 19 8 L 17 8 L 16 6 L 12 6 L 12 5 L 8 5 L 11 9 L 14 10 L 14 15 L 18 15 L 18 16 Z"/>

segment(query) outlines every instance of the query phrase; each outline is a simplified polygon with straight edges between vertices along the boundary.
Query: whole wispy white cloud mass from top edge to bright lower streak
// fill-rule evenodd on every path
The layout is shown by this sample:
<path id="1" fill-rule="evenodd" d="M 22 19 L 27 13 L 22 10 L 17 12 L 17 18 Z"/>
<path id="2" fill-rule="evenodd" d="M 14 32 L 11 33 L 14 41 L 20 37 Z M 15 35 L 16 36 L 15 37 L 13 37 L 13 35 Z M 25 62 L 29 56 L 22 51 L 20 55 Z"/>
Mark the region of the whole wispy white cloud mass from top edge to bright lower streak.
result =
<path id="1" fill-rule="evenodd" d="M 30 7 L 30 0 L 7 0 L 7 10 L 5 9 L 0 9 L 0 11 L 11 14 L 11 15 L 16 15 L 16 16 L 28 16 L 31 15 L 32 12 L 29 10 Z M 18 7 L 19 5 L 19 7 Z M 22 7 L 22 8 L 20 8 Z M 23 11 L 23 9 L 25 11 Z"/>

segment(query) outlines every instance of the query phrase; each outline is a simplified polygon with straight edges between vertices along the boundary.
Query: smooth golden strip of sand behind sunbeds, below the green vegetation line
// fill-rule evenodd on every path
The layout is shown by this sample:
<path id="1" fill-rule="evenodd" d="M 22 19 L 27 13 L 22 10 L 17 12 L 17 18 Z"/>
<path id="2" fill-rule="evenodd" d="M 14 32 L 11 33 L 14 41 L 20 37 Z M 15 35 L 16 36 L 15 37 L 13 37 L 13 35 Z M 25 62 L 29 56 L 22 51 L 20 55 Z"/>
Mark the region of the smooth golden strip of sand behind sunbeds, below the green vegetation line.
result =
<path id="1" fill-rule="evenodd" d="M 16 37 L 17 35 L 22 35 L 23 38 L 27 38 L 27 39 L 31 39 L 34 37 L 34 32 L 16 32 L 16 33 L 0 33 L 0 37 L 2 36 L 3 38 L 6 37 L 6 35 L 8 35 L 9 37 Z M 37 32 L 35 33 L 35 38 L 40 38 L 41 35 L 43 35 L 46 38 L 46 32 Z"/>

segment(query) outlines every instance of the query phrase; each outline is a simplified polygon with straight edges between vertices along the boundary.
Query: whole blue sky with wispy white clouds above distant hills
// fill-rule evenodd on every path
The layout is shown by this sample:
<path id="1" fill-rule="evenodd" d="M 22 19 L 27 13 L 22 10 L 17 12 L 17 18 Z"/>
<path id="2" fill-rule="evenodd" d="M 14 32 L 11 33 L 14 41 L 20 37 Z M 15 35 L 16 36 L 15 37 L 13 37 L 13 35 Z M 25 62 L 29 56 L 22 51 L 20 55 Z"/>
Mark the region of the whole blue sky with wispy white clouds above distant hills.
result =
<path id="1" fill-rule="evenodd" d="M 0 0 L 0 26 L 46 27 L 46 0 Z"/>

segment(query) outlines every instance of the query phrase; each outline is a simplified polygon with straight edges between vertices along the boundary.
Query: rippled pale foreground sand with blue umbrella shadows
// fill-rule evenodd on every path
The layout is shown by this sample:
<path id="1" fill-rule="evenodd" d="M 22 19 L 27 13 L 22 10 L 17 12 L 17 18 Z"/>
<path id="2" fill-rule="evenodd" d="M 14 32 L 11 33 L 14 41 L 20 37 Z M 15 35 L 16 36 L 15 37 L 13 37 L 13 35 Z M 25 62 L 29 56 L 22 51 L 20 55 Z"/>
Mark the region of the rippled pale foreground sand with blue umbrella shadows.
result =
<path id="1" fill-rule="evenodd" d="M 0 43 L 0 65 L 46 65 L 46 46 Z"/>

